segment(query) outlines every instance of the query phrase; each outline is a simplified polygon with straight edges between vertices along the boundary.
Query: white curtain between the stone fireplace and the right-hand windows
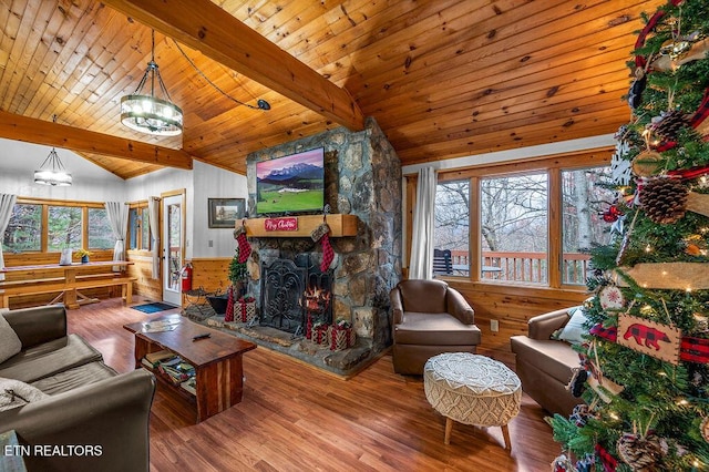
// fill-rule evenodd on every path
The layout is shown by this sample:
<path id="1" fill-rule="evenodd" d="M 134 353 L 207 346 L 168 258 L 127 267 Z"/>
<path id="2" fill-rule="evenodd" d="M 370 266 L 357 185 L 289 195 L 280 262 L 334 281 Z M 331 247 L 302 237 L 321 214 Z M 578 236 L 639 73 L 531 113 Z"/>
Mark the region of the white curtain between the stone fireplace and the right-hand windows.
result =
<path id="1" fill-rule="evenodd" d="M 433 167 L 419 171 L 417 206 L 413 208 L 409 278 L 433 278 L 433 212 L 436 175 Z"/>

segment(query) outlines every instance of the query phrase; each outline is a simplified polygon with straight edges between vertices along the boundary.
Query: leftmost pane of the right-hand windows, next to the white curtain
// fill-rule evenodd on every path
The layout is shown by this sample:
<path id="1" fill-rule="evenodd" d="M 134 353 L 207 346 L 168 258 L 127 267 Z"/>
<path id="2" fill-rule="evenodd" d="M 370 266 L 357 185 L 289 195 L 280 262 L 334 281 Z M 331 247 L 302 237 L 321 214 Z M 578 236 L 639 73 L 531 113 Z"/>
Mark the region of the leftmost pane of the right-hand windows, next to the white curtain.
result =
<path id="1" fill-rule="evenodd" d="M 435 249 L 451 252 L 451 265 L 436 275 L 467 276 L 470 271 L 470 181 L 438 184 L 433 237 Z M 449 273 L 450 269 L 452 273 Z"/>

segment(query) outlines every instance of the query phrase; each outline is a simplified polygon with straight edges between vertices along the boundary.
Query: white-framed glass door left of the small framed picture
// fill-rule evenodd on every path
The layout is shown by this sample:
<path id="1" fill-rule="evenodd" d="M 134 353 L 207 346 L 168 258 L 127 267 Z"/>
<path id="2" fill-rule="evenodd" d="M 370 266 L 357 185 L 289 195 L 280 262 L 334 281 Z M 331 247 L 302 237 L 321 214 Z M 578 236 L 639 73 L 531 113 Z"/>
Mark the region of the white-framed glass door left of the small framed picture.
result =
<path id="1" fill-rule="evenodd" d="M 163 198 L 163 301 L 182 305 L 182 195 Z"/>

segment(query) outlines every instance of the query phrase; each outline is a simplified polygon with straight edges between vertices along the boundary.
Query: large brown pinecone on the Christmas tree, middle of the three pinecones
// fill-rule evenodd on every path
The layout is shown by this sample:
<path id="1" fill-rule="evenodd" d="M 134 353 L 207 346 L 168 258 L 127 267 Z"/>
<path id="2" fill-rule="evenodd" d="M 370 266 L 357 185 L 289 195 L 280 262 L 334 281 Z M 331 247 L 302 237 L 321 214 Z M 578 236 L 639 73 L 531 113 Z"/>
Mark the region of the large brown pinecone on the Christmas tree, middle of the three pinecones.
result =
<path id="1" fill-rule="evenodd" d="M 645 179 L 639 202 L 648 218 L 657 224 L 671 224 L 685 216 L 687 187 L 679 178 Z"/>

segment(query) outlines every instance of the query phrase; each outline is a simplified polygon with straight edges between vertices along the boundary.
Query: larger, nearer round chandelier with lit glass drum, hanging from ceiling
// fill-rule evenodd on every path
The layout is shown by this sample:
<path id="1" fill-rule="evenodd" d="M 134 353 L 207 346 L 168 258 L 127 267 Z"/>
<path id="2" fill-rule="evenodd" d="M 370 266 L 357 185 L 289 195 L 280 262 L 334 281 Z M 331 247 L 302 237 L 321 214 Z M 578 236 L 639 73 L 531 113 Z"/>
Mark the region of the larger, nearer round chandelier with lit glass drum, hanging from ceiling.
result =
<path id="1" fill-rule="evenodd" d="M 135 92 L 121 99 L 121 123 L 142 133 L 176 136 L 182 133 L 183 114 L 179 106 L 169 99 L 169 93 L 155 63 L 155 30 L 152 31 L 151 51 L 151 61 Z M 142 93 L 145 84 L 150 86 L 150 95 Z M 164 99 L 155 96 L 155 85 Z"/>

